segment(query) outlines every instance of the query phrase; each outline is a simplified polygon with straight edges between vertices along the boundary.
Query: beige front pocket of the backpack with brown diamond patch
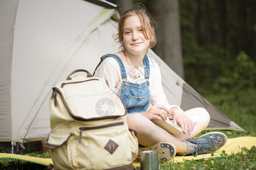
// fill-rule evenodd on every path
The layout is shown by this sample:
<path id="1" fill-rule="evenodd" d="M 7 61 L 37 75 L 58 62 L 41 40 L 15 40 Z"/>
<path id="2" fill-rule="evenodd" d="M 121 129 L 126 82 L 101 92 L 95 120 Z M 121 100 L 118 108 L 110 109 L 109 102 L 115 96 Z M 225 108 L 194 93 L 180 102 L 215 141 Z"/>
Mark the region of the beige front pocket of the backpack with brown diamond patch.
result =
<path id="1" fill-rule="evenodd" d="M 80 128 L 79 164 L 89 164 L 92 169 L 108 169 L 132 163 L 129 135 L 124 122 Z M 111 161 L 110 161 L 111 160 Z"/>

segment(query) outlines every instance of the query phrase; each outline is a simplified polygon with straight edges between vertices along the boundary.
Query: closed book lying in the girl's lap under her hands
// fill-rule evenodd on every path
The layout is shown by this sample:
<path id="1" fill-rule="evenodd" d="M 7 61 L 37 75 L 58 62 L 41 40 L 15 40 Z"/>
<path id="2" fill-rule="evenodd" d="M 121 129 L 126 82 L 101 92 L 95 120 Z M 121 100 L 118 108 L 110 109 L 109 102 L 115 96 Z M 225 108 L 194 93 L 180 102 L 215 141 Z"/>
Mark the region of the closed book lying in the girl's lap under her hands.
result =
<path id="1" fill-rule="evenodd" d="M 157 119 L 153 119 L 151 120 L 152 122 L 154 122 L 154 124 L 160 126 L 161 128 L 163 128 L 164 130 L 168 131 L 168 133 L 172 134 L 172 135 L 180 135 L 183 134 L 182 129 L 180 128 L 180 126 L 175 125 L 173 120 L 166 120 L 166 121 L 159 121 Z"/>

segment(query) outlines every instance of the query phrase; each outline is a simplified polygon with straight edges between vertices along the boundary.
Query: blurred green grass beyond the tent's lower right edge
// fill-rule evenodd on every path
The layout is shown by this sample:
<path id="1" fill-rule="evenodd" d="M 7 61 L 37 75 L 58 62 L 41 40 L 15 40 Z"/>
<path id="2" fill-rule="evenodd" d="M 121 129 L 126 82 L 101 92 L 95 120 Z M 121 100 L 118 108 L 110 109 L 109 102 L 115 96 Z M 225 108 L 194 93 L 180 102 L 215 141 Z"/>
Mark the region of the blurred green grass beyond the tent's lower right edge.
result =
<path id="1" fill-rule="evenodd" d="M 237 96 L 237 94 L 240 94 Z M 256 88 L 251 87 L 237 92 L 230 90 L 226 92 L 209 92 L 203 91 L 201 93 L 210 103 L 212 103 L 219 111 L 225 114 L 230 120 L 236 122 L 246 131 L 249 131 L 251 136 L 255 136 L 256 122 L 255 122 L 255 99 Z M 226 133 L 224 131 L 224 133 Z M 226 135 L 229 138 L 245 135 L 245 133 L 237 131 L 227 131 Z"/>

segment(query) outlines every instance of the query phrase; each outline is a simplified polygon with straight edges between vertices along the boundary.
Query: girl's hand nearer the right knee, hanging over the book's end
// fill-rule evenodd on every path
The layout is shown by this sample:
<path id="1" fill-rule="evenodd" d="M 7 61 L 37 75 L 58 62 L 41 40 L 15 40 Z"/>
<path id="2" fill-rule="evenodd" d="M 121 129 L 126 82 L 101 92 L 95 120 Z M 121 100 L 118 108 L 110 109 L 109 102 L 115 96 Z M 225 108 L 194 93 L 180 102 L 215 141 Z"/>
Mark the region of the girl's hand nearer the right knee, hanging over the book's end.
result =
<path id="1" fill-rule="evenodd" d="M 189 118 L 183 110 L 174 109 L 172 111 L 174 114 L 174 124 L 179 124 L 184 134 L 191 135 L 191 131 L 194 129 L 194 124 L 191 118 Z"/>

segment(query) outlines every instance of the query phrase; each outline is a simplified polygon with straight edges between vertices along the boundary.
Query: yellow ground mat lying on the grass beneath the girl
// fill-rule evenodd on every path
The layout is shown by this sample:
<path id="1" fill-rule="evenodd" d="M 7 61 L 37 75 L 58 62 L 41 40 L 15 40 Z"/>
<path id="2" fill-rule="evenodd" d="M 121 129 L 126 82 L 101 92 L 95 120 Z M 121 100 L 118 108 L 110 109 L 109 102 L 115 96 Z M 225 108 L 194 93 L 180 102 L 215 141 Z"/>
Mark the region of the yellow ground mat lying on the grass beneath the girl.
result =
<path id="1" fill-rule="evenodd" d="M 194 156 L 175 156 L 174 162 L 182 162 L 183 159 L 187 160 L 197 160 L 197 159 L 204 159 L 204 158 L 213 158 L 213 157 L 219 157 L 222 151 L 225 151 L 226 154 L 230 155 L 232 153 L 241 152 L 242 147 L 246 147 L 250 149 L 253 145 L 256 146 L 256 137 L 238 137 L 238 138 L 232 138 L 228 139 L 226 145 L 222 147 L 220 150 L 216 151 L 214 153 L 214 156 L 211 156 L 211 154 L 203 154 L 198 155 L 197 157 Z M 17 154 L 3 154 L 0 153 L 0 159 L 19 159 L 24 160 L 27 162 L 37 163 L 48 166 L 52 163 L 51 158 L 36 158 L 32 156 L 25 156 L 25 155 L 17 155 Z M 140 163 L 134 162 L 133 165 L 135 167 L 139 167 Z"/>

